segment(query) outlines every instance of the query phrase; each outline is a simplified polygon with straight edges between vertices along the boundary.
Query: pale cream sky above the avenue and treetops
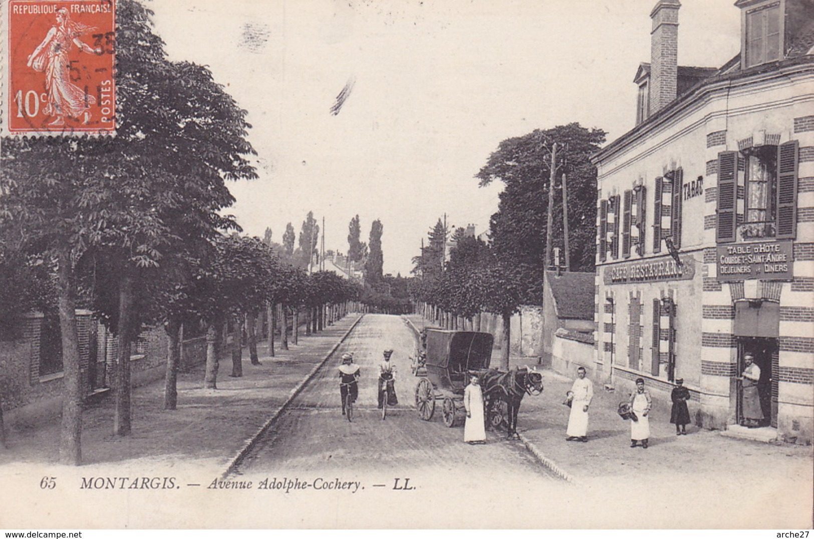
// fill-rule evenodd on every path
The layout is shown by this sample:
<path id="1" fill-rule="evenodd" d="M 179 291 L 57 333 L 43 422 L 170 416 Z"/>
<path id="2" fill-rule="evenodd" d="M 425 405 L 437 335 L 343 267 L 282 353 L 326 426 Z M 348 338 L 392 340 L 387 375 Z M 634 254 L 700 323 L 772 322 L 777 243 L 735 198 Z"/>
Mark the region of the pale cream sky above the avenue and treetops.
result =
<path id="1" fill-rule="evenodd" d="M 608 141 L 635 120 L 655 0 L 147 0 L 170 59 L 207 65 L 248 111 L 259 179 L 230 184 L 244 231 L 280 241 L 309 211 L 326 249 L 383 223 L 384 272 L 408 275 L 422 237 L 488 230 L 498 144 L 579 122 Z M 682 0 L 679 64 L 737 54 L 733 0 Z M 347 98 L 332 115 L 344 88 Z"/>

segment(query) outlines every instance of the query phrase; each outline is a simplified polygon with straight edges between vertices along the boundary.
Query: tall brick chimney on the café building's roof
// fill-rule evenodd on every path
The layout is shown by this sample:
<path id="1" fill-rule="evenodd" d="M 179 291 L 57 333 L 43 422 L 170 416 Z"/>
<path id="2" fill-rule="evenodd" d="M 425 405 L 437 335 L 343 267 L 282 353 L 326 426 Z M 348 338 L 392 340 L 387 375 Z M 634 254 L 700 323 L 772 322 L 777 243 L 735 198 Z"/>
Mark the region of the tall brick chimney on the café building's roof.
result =
<path id="1" fill-rule="evenodd" d="M 650 19 L 650 114 L 676 98 L 678 81 L 678 0 L 659 0 Z"/>

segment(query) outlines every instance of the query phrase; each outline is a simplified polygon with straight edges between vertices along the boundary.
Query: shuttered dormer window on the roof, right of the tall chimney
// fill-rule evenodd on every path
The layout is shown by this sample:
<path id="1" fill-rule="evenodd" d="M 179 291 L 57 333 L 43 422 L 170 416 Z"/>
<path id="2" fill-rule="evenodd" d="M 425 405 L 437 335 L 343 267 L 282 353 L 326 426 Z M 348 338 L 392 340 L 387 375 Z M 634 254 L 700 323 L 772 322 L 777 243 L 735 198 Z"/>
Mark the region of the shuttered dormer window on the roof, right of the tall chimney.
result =
<path id="1" fill-rule="evenodd" d="M 740 3 L 740 2 L 739 2 Z M 754 6 L 755 2 L 745 2 Z M 743 67 L 774 62 L 783 54 L 782 2 L 746 7 L 743 15 Z"/>

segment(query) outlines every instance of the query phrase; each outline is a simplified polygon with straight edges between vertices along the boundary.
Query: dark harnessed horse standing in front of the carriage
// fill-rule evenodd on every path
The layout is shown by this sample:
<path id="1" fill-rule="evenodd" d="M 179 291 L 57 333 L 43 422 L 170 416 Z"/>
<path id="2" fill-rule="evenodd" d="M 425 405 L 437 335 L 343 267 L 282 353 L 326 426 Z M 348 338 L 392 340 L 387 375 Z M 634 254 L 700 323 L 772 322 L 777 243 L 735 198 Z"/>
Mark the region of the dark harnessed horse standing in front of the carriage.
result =
<path id="1" fill-rule="evenodd" d="M 479 373 L 480 387 L 484 399 L 488 402 L 487 410 L 492 412 L 492 406 L 501 400 L 506 403 L 506 440 L 518 439 L 517 414 L 520 410 L 520 401 L 523 396 L 539 395 L 543 392 L 543 375 L 533 367 L 528 366 L 509 372 L 500 372 L 496 369 L 487 369 Z"/>

